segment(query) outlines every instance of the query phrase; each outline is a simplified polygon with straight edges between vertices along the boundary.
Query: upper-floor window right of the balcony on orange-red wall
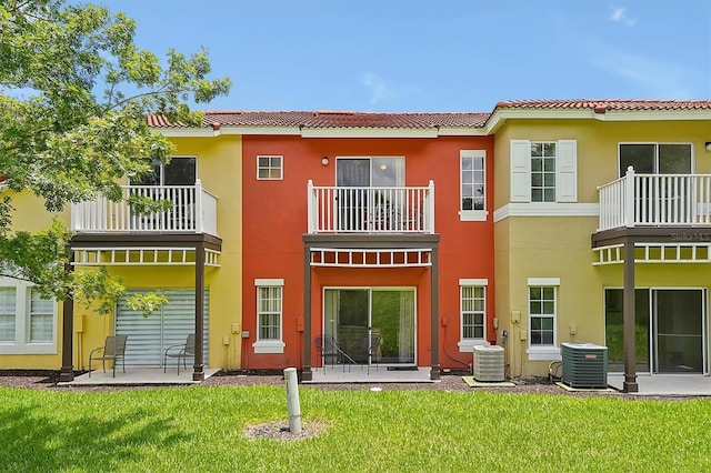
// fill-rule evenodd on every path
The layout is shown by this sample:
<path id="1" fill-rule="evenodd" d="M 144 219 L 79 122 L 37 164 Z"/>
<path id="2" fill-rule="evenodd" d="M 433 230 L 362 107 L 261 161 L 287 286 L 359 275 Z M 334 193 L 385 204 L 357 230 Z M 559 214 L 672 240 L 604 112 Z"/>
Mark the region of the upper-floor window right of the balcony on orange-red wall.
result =
<path id="1" fill-rule="evenodd" d="M 483 150 L 462 150 L 460 159 L 461 220 L 485 220 L 485 160 Z"/>

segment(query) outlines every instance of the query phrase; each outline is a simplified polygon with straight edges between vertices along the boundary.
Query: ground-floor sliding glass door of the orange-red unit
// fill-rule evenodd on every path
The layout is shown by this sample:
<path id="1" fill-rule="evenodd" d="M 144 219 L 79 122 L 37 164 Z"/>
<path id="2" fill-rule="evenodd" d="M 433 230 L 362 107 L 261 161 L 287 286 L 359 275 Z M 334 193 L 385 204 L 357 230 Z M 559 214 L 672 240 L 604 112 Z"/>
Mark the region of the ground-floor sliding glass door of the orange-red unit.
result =
<path id="1" fill-rule="evenodd" d="M 414 289 L 327 289 L 323 296 L 323 332 L 356 363 L 414 365 Z M 369 358 L 372 340 L 380 343 Z"/>

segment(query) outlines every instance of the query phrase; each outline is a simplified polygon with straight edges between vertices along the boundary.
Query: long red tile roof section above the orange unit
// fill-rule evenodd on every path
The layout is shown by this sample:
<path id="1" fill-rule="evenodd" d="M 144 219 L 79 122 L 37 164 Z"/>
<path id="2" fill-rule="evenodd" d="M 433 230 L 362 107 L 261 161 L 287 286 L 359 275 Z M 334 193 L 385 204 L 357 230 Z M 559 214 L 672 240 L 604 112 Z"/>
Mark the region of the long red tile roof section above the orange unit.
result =
<path id="1" fill-rule="evenodd" d="M 437 129 L 441 127 L 483 127 L 489 113 L 367 113 L 349 111 L 269 112 L 207 111 L 203 127 L 298 127 L 302 129 Z M 154 128 L 184 128 L 164 117 L 151 114 L 148 124 Z"/>

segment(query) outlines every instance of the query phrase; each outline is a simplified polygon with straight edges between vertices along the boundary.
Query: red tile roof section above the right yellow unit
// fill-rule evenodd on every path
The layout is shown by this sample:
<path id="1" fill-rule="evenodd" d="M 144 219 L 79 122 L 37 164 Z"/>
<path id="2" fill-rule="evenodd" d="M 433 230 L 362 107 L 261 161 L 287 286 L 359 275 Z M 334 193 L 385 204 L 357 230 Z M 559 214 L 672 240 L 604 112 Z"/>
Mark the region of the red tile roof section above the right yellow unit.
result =
<path id="1" fill-rule="evenodd" d="M 495 109 L 711 110 L 711 100 L 504 100 Z"/>

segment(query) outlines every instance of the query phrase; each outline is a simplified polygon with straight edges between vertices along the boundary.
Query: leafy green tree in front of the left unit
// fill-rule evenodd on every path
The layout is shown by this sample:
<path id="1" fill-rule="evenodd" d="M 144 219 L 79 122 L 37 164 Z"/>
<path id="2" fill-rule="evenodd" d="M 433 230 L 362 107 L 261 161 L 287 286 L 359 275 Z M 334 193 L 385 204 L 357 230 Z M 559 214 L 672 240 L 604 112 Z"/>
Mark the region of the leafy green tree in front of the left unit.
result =
<path id="1" fill-rule="evenodd" d="M 196 125 L 187 105 L 227 94 L 227 78 L 208 79 L 206 50 L 168 51 L 164 64 L 133 43 L 123 13 L 64 0 L 0 1 L 0 175 L 8 189 L 43 199 L 48 211 L 103 194 L 117 181 L 167 162 L 171 143 L 149 129 L 149 113 Z M 0 194 L 0 273 L 38 284 L 60 300 L 104 300 L 123 288 L 106 271 L 66 272 L 69 231 L 56 222 L 36 234 L 12 232 L 12 201 Z M 137 299 L 146 313 L 160 304 Z"/>

